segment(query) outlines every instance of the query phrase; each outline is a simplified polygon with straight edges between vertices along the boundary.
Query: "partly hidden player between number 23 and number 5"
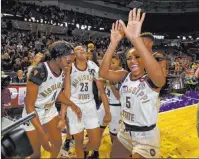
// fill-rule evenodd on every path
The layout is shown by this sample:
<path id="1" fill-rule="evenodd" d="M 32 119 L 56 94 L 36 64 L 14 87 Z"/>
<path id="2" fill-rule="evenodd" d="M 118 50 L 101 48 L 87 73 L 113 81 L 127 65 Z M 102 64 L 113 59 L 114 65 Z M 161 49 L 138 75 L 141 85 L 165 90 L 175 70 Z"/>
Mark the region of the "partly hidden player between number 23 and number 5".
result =
<path id="1" fill-rule="evenodd" d="M 114 71 L 120 70 L 120 59 L 117 55 L 114 55 L 112 57 L 110 69 Z M 111 142 L 113 143 L 113 141 L 117 138 L 117 133 L 119 131 L 119 123 L 120 123 L 120 109 L 121 109 L 121 104 L 119 101 L 120 100 L 120 95 L 119 95 L 120 83 L 113 83 L 106 80 L 103 80 L 103 81 L 105 83 L 105 92 L 108 97 L 109 107 L 110 107 L 110 112 L 111 112 L 111 117 L 112 117 L 112 120 L 109 123 L 109 132 L 110 132 Z M 103 103 L 101 104 L 97 113 L 100 120 L 100 132 L 101 132 L 101 138 L 102 138 L 104 130 L 107 126 L 103 123 L 103 118 L 105 115 Z M 92 155 L 90 156 L 90 158 L 95 158 L 95 159 L 98 157 L 99 157 L 98 150 L 93 151 Z"/>

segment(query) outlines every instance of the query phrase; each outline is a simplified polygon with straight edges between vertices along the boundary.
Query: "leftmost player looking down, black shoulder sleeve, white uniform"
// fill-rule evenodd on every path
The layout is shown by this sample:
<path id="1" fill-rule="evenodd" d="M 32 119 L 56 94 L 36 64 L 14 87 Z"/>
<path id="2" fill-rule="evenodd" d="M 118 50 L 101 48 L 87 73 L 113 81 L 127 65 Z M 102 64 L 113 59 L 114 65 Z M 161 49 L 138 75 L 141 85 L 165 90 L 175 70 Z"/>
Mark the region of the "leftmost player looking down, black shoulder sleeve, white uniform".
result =
<path id="1" fill-rule="evenodd" d="M 51 45 L 51 60 L 34 67 L 27 83 L 27 94 L 22 116 L 33 111 L 37 116 L 24 125 L 24 129 L 33 147 L 31 158 L 40 158 L 41 145 L 56 158 L 62 144 L 61 131 L 57 128 L 59 121 L 55 101 L 58 99 L 81 118 L 81 110 L 61 91 L 63 71 L 70 60 L 67 55 L 73 52 L 71 45 L 57 41 Z"/>

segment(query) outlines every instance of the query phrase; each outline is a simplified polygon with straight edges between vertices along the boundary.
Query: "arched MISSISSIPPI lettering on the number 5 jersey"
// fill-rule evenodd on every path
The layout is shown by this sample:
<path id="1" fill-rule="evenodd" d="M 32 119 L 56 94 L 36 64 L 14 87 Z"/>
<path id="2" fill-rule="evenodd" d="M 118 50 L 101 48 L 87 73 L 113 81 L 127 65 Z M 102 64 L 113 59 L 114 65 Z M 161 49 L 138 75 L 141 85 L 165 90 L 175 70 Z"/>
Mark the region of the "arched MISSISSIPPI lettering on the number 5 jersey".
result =
<path id="1" fill-rule="evenodd" d="M 147 94 L 144 91 L 142 91 L 143 87 L 145 87 L 144 83 L 140 83 L 138 86 L 130 87 L 130 88 L 128 88 L 127 85 L 123 85 L 122 92 L 123 93 L 132 93 L 132 94 L 136 95 L 142 103 L 147 103 L 150 101 L 150 99 L 148 98 Z"/>

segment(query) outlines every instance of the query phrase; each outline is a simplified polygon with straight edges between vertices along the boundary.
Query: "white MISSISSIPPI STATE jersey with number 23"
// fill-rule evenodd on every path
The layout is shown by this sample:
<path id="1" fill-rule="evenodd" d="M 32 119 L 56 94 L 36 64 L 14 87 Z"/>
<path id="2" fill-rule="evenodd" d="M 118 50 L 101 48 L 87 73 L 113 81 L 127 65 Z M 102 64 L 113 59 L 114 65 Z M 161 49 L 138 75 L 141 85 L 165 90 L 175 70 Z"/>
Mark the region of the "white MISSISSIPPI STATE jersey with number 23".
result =
<path id="1" fill-rule="evenodd" d="M 70 75 L 71 101 L 87 103 L 93 100 L 93 80 L 98 79 L 99 67 L 92 61 L 87 61 L 87 68 L 79 70 L 72 64 Z"/>

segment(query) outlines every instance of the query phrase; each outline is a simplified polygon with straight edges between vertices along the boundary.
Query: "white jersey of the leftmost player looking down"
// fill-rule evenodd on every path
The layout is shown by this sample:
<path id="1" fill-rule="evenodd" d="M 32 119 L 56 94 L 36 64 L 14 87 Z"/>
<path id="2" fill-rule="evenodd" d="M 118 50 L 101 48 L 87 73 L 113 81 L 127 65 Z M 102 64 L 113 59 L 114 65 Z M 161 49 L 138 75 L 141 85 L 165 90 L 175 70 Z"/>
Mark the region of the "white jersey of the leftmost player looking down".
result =
<path id="1" fill-rule="evenodd" d="M 49 109 L 55 105 L 55 101 L 63 88 L 63 76 L 56 77 L 50 70 L 47 62 L 44 62 L 47 70 L 47 80 L 39 86 L 37 100 L 35 102 L 35 107 L 39 109 Z"/>

